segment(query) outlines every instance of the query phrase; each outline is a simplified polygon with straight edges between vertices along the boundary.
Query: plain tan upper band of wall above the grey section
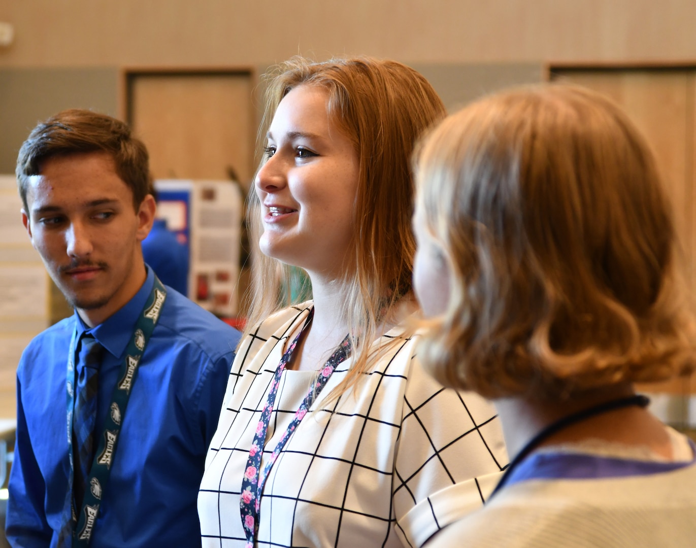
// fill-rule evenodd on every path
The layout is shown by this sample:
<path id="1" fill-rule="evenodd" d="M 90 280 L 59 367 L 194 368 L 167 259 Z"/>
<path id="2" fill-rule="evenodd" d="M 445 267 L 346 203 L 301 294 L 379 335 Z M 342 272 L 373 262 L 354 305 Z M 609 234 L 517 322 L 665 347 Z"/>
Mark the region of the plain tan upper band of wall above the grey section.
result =
<path id="1" fill-rule="evenodd" d="M 6 66 L 696 58 L 693 0 L 0 0 Z"/>

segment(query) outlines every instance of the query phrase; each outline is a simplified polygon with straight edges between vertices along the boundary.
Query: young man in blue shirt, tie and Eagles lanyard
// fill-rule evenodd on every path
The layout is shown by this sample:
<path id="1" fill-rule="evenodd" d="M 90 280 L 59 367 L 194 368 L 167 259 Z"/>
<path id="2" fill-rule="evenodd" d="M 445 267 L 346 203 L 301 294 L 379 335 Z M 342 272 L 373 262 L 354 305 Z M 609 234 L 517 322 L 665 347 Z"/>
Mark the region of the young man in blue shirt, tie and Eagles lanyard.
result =
<path id="1" fill-rule="evenodd" d="M 155 218 L 143 143 L 108 116 L 63 111 L 22 145 L 17 184 L 24 226 L 75 313 L 17 369 L 10 544 L 200 546 L 198 486 L 239 333 L 143 261 Z M 86 369 L 92 339 L 100 358 Z M 80 430 L 86 401 L 94 426 Z"/>

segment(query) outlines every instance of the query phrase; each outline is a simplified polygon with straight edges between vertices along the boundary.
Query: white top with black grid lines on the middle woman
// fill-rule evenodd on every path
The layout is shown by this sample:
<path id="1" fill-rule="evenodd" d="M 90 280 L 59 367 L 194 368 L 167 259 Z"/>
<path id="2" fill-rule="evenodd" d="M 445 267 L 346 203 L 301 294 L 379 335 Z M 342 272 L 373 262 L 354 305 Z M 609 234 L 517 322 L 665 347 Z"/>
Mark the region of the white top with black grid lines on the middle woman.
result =
<path id="1" fill-rule="evenodd" d="M 246 543 L 239 492 L 248 451 L 287 335 L 309 307 L 271 316 L 237 353 L 198 494 L 204 547 Z M 285 445 L 261 498 L 259 547 L 420 546 L 481 506 L 507 463 L 495 412 L 439 386 L 413 359 L 415 338 L 399 334 L 383 335 L 396 344 L 324 409 L 351 360 L 338 366 Z M 264 462 L 312 379 L 283 373 Z"/>

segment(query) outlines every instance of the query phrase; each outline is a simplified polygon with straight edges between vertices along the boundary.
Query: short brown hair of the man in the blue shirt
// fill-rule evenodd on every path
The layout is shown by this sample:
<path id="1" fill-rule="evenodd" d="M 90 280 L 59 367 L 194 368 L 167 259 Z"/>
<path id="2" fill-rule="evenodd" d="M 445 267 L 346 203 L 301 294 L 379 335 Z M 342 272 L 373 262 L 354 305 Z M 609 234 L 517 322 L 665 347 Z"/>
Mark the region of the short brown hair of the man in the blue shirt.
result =
<path id="1" fill-rule="evenodd" d="M 17 156 L 17 186 L 26 209 L 28 179 L 41 175 L 45 161 L 57 156 L 106 152 L 113 159 L 116 175 L 133 193 L 138 209 L 148 195 L 148 151 L 132 136 L 124 122 L 80 108 L 72 108 L 41 122 L 24 141 Z"/>

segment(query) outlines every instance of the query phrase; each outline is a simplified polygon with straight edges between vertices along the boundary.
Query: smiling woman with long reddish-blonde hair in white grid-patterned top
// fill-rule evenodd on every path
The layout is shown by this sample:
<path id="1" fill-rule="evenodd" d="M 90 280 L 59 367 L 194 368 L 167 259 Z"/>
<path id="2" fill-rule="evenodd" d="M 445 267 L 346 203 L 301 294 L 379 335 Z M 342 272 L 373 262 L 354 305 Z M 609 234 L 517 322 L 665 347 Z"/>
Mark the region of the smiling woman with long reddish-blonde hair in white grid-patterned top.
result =
<path id="1" fill-rule="evenodd" d="M 205 546 L 420 546 L 505 466 L 491 406 L 429 378 L 404 327 L 410 156 L 444 115 L 393 61 L 294 58 L 269 79 L 260 252 L 198 497 Z M 312 300 L 291 302 L 290 266 Z"/>

